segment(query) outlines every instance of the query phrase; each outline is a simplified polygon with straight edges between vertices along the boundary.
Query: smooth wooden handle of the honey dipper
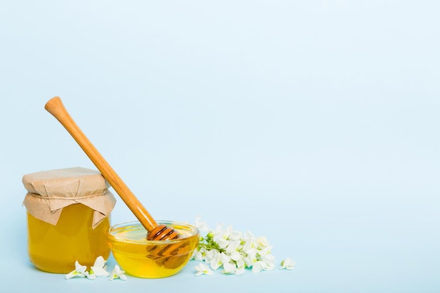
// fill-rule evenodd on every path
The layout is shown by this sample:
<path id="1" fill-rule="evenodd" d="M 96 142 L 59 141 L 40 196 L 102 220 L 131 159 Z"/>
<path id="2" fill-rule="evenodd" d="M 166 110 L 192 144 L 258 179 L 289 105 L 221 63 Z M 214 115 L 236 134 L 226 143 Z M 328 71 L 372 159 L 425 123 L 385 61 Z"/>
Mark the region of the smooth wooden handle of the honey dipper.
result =
<path id="1" fill-rule="evenodd" d="M 44 106 L 44 109 L 56 117 L 75 141 L 77 141 L 78 145 L 84 150 L 89 159 L 91 159 L 91 162 L 93 162 L 96 168 L 101 171 L 104 178 L 110 183 L 110 185 L 112 185 L 112 188 L 115 189 L 119 197 L 121 197 L 125 204 L 127 204 L 127 207 L 131 209 L 134 216 L 136 216 L 145 229 L 148 230 L 148 232 L 153 230 L 157 226 L 156 221 L 148 213 L 145 207 L 143 207 L 141 202 L 139 202 L 124 181 L 122 181 L 117 175 L 115 170 L 110 167 L 110 164 L 108 164 L 104 157 L 98 152 L 98 150 L 96 150 L 82 130 L 79 129 L 75 121 L 65 109 L 61 99 L 59 97 L 51 98 L 51 100 L 48 100 Z"/>

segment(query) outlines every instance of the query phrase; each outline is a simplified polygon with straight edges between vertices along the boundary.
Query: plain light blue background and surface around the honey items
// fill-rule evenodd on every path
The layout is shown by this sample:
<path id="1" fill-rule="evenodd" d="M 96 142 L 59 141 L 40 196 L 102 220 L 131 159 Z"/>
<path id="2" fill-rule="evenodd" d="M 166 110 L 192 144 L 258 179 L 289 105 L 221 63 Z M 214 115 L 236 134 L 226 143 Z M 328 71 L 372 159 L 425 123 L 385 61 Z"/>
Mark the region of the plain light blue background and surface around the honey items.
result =
<path id="1" fill-rule="evenodd" d="M 0 291 L 440 292 L 439 9 L 2 1 Z M 44 110 L 53 96 L 156 219 L 265 235 L 295 271 L 34 269 L 22 175 L 93 168 Z M 113 223 L 131 220 L 119 200 Z"/>

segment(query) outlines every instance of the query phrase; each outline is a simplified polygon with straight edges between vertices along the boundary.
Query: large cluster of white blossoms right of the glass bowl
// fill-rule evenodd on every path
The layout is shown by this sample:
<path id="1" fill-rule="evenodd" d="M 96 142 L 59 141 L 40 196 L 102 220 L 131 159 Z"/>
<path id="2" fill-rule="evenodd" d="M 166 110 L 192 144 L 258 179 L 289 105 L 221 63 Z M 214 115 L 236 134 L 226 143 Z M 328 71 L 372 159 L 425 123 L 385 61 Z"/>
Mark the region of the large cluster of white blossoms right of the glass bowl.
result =
<path id="1" fill-rule="evenodd" d="M 234 275 L 241 275 L 246 268 L 252 269 L 252 273 L 275 268 L 272 245 L 266 237 L 255 237 L 248 231 L 242 233 L 233 230 L 232 226 L 224 229 L 219 225 L 210 230 L 206 223 L 200 221 L 200 216 L 195 219 L 195 226 L 201 232 L 207 231 L 207 234 L 200 236 L 193 259 L 205 261 L 210 266 L 200 263 L 195 267 L 196 275 L 212 275 L 212 270 L 218 268 L 223 268 L 222 273 Z"/>

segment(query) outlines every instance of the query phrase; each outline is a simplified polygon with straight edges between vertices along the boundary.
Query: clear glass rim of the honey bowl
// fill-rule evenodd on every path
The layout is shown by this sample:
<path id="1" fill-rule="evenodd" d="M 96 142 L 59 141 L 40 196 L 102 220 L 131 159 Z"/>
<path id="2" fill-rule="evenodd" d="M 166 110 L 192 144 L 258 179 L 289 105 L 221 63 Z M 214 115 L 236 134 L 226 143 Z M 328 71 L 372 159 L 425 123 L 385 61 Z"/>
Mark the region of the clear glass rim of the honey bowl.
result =
<path id="1" fill-rule="evenodd" d="M 177 243 L 177 242 L 181 242 L 181 240 L 189 238 L 189 237 L 194 237 L 195 235 L 199 235 L 200 231 L 199 229 L 190 224 L 190 223 L 185 223 L 185 222 L 180 222 L 180 221 L 167 221 L 167 220 L 157 220 L 158 224 L 164 224 L 167 226 L 179 226 L 179 228 L 184 228 L 185 230 L 188 230 L 190 232 L 190 235 L 186 235 L 184 237 L 179 237 L 173 240 L 134 240 L 134 239 L 130 239 L 130 238 L 126 238 L 126 237 L 120 237 L 117 235 L 117 233 L 120 233 L 122 231 L 124 231 L 124 228 L 129 228 L 129 227 L 136 227 L 138 228 L 138 230 L 144 230 L 145 231 L 145 236 L 147 235 L 147 230 L 142 226 L 141 222 L 139 221 L 127 221 L 124 223 L 117 223 L 115 225 L 110 226 L 110 228 L 108 228 L 108 232 L 107 235 L 109 238 L 111 238 L 114 241 L 119 241 L 119 242 L 125 242 L 125 243 L 133 243 L 133 244 L 140 244 L 140 245 L 164 245 L 164 244 L 172 244 L 172 243 Z M 117 230 L 119 229 L 119 230 Z"/>

